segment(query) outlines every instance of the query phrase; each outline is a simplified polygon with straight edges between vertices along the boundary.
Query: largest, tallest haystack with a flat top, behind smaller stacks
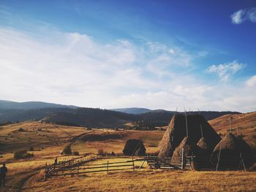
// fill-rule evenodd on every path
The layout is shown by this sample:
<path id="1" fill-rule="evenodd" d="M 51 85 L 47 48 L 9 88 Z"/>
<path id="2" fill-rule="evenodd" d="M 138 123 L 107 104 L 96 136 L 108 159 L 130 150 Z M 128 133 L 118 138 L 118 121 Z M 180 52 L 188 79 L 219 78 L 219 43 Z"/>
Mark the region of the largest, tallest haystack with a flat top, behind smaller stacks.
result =
<path id="1" fill-rule="evenodd" d="M 196 145 L 199 139 L 202 137 L 200 126 L 202 126 L 203 137 L 208 141 L 209 149 L 213 150 L 217 143 L 220 141 L 220 137 L 214 128 L 206 121 L 203 115 L 187 115 L 187 126 L 185 115 L 174 115 L 170 121 L 169 127 L 165 131 L 161 142 L 159 143 L 159 157 L 171 157 L 173 151 L 180 145 L 184 137 L 188 137 L 189 142 Z"/>

